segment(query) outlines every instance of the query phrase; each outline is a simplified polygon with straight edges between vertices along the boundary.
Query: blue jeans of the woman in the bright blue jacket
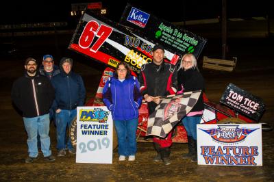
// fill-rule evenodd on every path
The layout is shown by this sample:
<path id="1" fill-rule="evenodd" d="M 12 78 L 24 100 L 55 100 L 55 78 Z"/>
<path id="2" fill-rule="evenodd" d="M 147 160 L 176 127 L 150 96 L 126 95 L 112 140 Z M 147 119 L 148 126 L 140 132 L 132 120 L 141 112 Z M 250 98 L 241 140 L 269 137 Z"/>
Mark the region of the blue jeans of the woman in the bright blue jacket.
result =
<path id="1" fill-rule="evenodd" d="M 138 118 L 132 120 L 114 120 L 118 138 L 119 155 L 135 155 L 137 151 L 136 131 Z"/>

